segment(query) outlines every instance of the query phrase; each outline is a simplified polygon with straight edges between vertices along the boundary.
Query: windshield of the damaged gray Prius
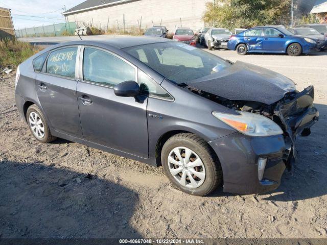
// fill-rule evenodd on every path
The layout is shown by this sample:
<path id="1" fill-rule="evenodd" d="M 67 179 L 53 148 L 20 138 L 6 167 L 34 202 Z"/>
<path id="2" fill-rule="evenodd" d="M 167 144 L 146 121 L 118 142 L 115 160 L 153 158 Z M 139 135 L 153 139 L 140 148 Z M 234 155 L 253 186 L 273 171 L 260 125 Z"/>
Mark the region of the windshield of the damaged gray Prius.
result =
<path id="1" fill-rule="evenodd" d="M 231 65 L 213 54 L 180 42 L 153 43 L 124 50 L 177 84 L 220 72 Z"/>

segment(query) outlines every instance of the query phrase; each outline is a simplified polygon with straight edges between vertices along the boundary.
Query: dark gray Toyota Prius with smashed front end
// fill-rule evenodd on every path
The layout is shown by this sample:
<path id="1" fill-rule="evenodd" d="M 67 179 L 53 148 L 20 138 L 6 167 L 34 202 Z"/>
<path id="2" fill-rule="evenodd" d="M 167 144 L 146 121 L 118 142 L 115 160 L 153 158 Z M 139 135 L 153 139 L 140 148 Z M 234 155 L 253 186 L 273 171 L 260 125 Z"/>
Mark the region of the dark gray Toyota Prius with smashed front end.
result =
<path id="1" fill-rule="evenodd" d="M 162 165 L 194 195 L 276 189 L 319 116 L 312 86 L 161 38 L 58 44 L 20 64 L 15 85 L 38 141 Z"/>

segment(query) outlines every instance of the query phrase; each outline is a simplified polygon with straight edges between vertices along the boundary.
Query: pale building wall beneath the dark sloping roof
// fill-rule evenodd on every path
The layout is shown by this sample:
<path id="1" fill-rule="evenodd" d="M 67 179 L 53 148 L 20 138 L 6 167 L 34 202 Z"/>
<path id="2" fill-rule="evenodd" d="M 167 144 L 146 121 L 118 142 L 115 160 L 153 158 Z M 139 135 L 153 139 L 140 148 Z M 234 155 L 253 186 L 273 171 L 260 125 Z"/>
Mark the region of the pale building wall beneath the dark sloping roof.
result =
<path id="1" fill-rule="evenodd" d="M 125 15 L 125 28 L 137 28 L 142 17 L 142 29 L 159 25 L 160 21 L 170 32 L 177 27 L 189 27 L 198 30 L 204 26 L 202 20 L 205 3 L 211 0 L 136 0 L 129 3 L 117 4 L 98 9 L 66 15 L 66 21 L 77 21 L 78 26 L 83 22 L 86 26 L 123 29 L 123 14 Z M 181 19 L 181 21 L 180 21 Z"/>

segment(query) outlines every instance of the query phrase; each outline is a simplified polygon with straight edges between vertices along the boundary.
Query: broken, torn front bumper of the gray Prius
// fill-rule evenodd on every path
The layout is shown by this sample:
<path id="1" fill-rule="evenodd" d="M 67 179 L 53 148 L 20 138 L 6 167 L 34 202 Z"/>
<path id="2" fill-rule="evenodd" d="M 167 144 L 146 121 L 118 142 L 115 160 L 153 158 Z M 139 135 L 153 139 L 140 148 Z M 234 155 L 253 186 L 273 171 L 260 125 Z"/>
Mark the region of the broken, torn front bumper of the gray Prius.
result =
<path id="1" fill-rule="evenodd" d="M 277 103 L 274 115 L 282 124 L 284 135 L 249 137 L 234 133 L 209 142 L 219 157 L 224 178 L 224 192 L 252 194 L 276 189 L 285 168 L 296 159 L 295 140 L 308 136 L 319 113 L 313 106 L 312 86 L 291 99 Z M 258 177 L 259 159 L 267 159 L 263 179 Z"/>

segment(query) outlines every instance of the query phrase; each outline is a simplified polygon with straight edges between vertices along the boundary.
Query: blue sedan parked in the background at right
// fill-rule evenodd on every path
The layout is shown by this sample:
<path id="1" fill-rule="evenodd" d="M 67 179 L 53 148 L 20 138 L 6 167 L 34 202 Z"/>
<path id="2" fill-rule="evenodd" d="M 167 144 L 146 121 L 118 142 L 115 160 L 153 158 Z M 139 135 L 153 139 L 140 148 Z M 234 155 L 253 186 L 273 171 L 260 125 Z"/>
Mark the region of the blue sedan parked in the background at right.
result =
<path id="1" fill-rule="evenodd" d="M 256 27 L 232 35 L 228 41 L 229 50 L 236 50 L 238 54 L 247 53 L 287 53 L 299 56 L 319 51 L 315 40 L 300 35 L 293 35 L 282 26 Z"/>

